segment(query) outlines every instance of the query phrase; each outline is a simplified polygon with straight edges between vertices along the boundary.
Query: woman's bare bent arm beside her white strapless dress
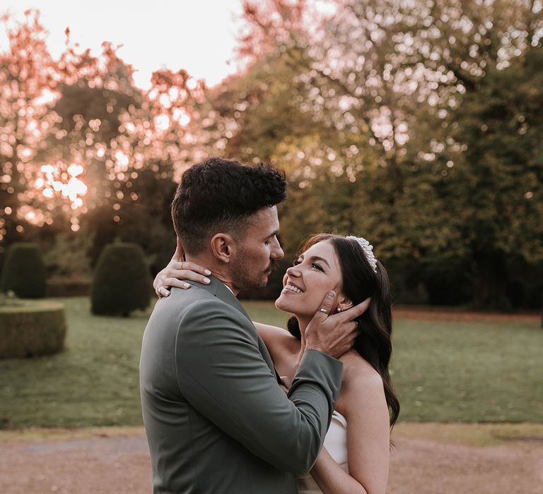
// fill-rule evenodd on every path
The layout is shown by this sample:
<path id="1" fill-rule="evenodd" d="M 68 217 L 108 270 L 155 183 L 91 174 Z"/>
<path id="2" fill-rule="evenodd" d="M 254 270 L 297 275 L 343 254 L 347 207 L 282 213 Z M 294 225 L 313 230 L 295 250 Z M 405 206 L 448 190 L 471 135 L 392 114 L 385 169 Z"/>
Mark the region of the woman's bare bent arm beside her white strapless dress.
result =
<path id="1" fill-rule="evenodd" d="M 349 473 L 322 448 L 311 475 L 325 494 L 385 494 L 390 428 L 383 382 L 365 373 L 343 386 Z"/>

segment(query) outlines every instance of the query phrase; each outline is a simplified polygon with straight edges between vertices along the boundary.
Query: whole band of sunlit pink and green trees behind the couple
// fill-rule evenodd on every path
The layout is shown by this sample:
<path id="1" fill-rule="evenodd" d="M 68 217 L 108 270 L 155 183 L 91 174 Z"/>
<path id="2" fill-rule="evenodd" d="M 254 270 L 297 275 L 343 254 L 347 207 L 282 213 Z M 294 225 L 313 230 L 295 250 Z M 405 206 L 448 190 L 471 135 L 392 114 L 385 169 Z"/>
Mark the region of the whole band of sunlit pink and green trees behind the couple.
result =
<path id="1" fill-rule="evenodd" d="M 285 169 L 287 259 L 305 234 L 354 233 L 398 301 L 540 307 L 541 0 L 320 4 L 245 1 L 242 73 L 206 88 L 164 69 L 146 91 L 111 44 L 68 37 L 55 60 L 38 13 L 6 17 L 0 248 L 36 241 L 53 275 L 84 278 L 121 239 L 156 272 L 175 181 L 221 155 Z"/>

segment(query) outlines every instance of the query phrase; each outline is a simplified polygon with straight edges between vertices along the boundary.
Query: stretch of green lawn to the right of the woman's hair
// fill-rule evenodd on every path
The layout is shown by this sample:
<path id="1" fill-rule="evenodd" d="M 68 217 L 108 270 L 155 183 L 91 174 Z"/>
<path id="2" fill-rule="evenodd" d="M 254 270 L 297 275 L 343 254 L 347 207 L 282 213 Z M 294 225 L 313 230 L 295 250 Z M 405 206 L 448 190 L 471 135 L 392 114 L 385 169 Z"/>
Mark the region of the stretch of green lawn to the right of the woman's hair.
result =
<path id="1" fill-rule="evenodd" d="M 543 422 L 537 323 L 398 320 L 394 344 L 402 420 Z"/>

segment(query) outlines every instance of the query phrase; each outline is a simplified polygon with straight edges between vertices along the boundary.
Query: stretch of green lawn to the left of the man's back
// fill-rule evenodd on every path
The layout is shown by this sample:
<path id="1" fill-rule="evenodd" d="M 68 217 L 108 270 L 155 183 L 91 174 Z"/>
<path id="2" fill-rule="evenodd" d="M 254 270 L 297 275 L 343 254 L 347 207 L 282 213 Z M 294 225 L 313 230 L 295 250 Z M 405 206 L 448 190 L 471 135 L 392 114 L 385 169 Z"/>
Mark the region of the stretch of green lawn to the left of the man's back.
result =
<path id="1" fill-rule="evenodd" d="M 88 299 L 63 301 L 62 354 L 0 361 L 0 421 L 12 427 L 141 423 L 138 361 L 148 313 L 98 317 Z"/>

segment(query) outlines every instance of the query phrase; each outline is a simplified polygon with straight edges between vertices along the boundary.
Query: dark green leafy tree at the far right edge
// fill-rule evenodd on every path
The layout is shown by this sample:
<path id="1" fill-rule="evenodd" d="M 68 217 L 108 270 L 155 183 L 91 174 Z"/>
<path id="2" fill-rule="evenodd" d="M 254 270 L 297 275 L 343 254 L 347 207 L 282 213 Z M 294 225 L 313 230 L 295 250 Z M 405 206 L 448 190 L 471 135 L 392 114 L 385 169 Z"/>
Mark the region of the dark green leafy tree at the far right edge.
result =
<path id="1" fill-rule="evenodd" d="M 490 67 L 455 112 L 455 137 L 467 145 L 457 210 L 479 268 L 479 305 L 503 308 L 508 279 L 519 274 L 508 272 L 512 260 L 543 262 L 542 63 L 534 47 L 508 68 Z"/>

